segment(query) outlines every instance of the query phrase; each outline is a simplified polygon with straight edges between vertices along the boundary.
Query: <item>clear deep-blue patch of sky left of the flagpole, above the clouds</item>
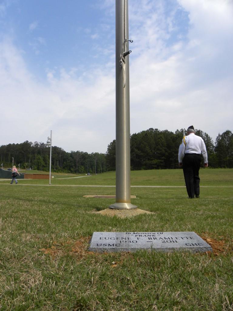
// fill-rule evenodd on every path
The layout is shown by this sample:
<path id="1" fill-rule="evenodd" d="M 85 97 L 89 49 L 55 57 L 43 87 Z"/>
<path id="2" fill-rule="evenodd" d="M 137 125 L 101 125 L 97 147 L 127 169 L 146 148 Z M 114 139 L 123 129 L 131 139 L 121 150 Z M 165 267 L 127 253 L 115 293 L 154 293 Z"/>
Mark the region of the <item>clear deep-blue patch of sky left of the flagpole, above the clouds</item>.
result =
<path id="1" fill-rule="evenodd" d="M 11 35 L 23 50 L 28 69 L 42 82 L 51 68 L 75 67 L 83 72 L 98 65 L 103 61 L 100 41 L 114 45 L 115 17 L 105 15 L 101 1 L 5 3 L 2 34 Z"/>

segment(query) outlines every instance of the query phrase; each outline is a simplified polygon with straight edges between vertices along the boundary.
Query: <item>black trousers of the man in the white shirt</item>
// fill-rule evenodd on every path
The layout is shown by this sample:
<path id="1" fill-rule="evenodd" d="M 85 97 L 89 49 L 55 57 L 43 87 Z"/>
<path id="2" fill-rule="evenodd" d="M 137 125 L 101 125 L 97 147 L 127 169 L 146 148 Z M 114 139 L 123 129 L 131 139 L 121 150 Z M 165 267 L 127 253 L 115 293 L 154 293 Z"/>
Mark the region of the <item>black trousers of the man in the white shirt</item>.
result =
<path id="1" fill-rule="evenodd" d="M 201 165 L 201 155 L 196 153 L 186 153 L 183 159 L 183 172 L 185 185 L 189 197 L 200 194 L 199 169 Z"/>

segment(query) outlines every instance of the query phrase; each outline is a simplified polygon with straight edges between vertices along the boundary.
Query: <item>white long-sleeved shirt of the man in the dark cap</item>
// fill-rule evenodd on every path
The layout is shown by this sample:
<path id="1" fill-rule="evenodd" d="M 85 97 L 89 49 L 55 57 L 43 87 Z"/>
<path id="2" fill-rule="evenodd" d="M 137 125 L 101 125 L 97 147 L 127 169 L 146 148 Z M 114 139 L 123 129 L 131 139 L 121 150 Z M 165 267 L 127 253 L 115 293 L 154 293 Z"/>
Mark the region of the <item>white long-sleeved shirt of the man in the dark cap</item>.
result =
<path id="1" fill-rule="evenodd" d="M 179 163 L 182 162 L 185 153 L 202 154 L 204 163 L 208 163 L 205 143 L 200 136 L 197 136 L 194 133 L 190 133 L 182 139 L 179 147 Z"/>

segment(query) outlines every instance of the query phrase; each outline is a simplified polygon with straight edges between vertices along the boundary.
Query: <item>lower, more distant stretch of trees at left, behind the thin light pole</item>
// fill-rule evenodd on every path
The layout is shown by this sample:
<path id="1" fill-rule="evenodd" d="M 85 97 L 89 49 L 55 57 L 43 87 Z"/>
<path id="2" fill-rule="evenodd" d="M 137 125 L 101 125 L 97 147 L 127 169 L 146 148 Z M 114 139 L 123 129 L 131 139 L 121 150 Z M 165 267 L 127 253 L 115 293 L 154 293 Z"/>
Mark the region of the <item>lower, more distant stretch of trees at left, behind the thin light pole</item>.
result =
<path id="1" fill-rule="evenodd" d="M 2 145 L 0 157 L 4 167 L 12 167 L 12 158 L 14 158 L 17 167 L 48 171 L 50 147 L 43 142 L 29 141 Z M 106 156 L 98 152 L 91 154 L 83 151 L 66 152 L 60 147 L 52 146 L 51 169 L 64 173 L 97 174 L 107 170 Z"/>

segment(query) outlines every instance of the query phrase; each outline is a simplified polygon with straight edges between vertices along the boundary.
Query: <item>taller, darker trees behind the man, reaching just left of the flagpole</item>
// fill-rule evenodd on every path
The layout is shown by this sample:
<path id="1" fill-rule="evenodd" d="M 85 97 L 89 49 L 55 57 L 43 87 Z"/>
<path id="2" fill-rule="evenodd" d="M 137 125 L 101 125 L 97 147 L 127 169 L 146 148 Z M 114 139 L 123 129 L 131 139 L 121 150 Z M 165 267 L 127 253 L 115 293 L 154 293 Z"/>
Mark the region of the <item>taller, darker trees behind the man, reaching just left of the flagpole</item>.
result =
<path id="1" fill-rule="evenodd" d="M 212 138 L 200 129 L 196 135 L 203 138 L 208 152 L 208 164 L 212 168 L 233 167 L 233 134 L 226 130 L 218 134 L 215 144 Z M 131 170 L 175 169 L 178 168 L 178 149 L 183 138 L 183 129 L 175 133 L 149 128 L 130 136 Z M 110 170 L 115 170 L 116 141 L 107 147 L 106 162 Z M 203 159 L 202 159 L 203 161 Z"/>

